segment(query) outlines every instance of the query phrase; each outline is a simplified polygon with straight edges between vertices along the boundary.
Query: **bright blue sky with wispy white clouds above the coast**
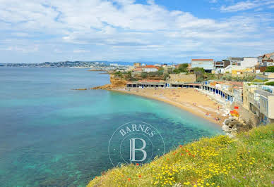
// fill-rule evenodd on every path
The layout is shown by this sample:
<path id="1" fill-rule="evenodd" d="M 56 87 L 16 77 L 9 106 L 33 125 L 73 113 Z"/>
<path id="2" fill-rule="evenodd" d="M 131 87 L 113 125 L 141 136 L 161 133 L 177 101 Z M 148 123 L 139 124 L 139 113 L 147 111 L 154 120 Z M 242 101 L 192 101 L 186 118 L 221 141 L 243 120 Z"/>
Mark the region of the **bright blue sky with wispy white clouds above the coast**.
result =
<path id="1" fill-rule="evenodd" d="M 0 0 L 0 63 L 189 63 L 274 51 L 274 0 Z"/>

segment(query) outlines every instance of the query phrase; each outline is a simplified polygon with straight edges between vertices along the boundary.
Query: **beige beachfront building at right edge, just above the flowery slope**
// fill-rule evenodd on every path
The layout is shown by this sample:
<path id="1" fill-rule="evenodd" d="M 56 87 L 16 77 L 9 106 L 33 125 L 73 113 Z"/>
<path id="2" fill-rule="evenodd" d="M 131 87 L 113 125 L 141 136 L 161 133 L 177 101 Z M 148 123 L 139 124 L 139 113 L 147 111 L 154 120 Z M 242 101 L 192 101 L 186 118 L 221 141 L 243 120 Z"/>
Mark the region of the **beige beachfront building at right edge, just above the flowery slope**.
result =
<path id="1" fill-rule="evenodd" d="M 244 83 L 243 106 L 257 115 L 260 123 L 274 122 L 274 86 Z"/>

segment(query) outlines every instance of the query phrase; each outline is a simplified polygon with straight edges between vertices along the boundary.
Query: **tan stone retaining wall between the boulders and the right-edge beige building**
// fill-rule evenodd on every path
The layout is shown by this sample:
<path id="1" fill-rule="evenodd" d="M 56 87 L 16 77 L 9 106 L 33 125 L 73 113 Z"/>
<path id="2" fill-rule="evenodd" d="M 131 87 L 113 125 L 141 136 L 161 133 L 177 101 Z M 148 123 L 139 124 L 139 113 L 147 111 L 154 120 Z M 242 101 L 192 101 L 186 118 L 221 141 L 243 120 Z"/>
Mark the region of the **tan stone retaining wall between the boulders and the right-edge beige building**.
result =
<path id="1" fill-rule="evenodd" d="M 236 103 L 236 102 L 232 103 L 232 105 L 230 105 L 231 110 L 234 110 L 234 106 L 239 107 L 239 110 L 237 109 L 237 111 L 239 112 L 239 117 L 241 117 L 246 122 L 246 124 L 251 124 L 252 127 L 258 126 L 259 119 L 257 115 L 255 115 L 250 110 L 247 110 L 246 108 L 244 108 L 241 103 Z"/>

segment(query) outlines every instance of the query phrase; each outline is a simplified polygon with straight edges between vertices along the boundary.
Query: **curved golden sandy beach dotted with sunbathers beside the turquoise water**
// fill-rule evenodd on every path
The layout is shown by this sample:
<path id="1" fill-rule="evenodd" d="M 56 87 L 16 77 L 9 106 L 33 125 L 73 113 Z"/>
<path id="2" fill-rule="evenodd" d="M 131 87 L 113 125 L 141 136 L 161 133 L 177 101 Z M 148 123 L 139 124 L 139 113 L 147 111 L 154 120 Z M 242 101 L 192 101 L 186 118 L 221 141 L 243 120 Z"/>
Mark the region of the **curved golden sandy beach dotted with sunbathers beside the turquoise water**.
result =
<path id="1" fill-rule="evenodd" d="M 130 89 L 112 89 L 123 93 L 134 94 L 153 98 L 171 105 L 187 110 L 194 115 L 210 120 L 215 124 L 222 126 L 222 122 L 228 118 L 227 109 L 204 93 L 196 89 L 155 89 L 155 88 L 130 88 Z M 216 120 L 218 118 L 218 120 Z"/>

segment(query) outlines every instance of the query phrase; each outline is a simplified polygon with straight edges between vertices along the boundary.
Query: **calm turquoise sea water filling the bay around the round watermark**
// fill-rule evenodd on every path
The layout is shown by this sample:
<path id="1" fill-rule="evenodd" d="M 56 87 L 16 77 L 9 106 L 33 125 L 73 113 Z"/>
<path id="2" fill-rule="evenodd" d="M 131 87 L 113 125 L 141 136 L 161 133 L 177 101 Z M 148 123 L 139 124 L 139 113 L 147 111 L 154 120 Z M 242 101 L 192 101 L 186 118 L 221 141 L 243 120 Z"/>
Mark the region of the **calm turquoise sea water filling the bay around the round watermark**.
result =
<path id="1" fill-rule="evenodd" d="M 104 90 L 109 75 L 74 68 L 0 67 L 0 186 L 85 186 L 112 167 L 108 141 L 146 122 L 166 150 L 220 127 L 166 103 Z"/>

